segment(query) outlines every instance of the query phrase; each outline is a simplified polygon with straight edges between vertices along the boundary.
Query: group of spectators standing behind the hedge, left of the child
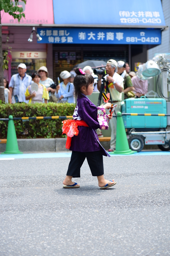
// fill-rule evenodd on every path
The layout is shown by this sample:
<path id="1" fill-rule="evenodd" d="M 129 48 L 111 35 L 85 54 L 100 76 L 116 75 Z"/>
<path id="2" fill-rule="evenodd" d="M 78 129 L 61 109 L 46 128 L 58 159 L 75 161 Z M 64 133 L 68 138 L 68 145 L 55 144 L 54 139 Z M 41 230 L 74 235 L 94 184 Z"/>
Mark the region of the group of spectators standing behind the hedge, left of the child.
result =
<path id="1" fill-rule="evenodd" d="M 60 73 L 63 82 L 56 85 L 53 79 L 48 77 L 45 66 L 40 67 L 32 76 L 26 74 L 24 63 L 20 63 L 17 68 L 18 73 L 11 77 L 9 89 L 6 88 L 7 81 L 4 78 L 5 103 L 75 103 L 74 86 L 71 83 L 74 76 L 67 70 Z M 36 90 L 35 86 L 32 86 L 34 83 L 38 85 Z"/>

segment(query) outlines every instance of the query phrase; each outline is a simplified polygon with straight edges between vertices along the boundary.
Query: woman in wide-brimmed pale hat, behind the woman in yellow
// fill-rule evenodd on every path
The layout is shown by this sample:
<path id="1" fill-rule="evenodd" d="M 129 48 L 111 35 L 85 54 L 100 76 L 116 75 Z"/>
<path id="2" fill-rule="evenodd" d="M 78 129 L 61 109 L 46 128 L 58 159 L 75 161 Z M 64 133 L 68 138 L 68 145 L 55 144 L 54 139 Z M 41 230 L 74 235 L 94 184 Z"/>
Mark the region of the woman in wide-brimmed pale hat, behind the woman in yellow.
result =
<path id="1" fill-rule="evenodd" d="M 46 86 L 47 91 L 49 92 L 49 96 L 51 96 L 51 93 L 55 92 L 55 89 L 50 87 L 51 84 L 54 84 L 54 81 L 53 79 L 48 77 L 49 73 L 47 68 L 45 66 L 42 66 L 37 70 L 37 73 L 41 77 L 41 80 L 39 81 L 39 83 Z"/>

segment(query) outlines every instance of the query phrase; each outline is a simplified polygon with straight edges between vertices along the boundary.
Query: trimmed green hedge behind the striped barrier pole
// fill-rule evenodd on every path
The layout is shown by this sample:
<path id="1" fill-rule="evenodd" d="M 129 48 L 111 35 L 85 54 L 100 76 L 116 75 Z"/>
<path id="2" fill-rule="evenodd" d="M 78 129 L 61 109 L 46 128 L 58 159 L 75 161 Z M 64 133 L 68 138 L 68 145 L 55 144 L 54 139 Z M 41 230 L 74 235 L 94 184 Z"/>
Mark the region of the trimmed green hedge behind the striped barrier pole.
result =
<path id="1" fill-rule="evenodd" d="M 70 103 L 35 103 L 35 104 L 0 104 L 0 118 L 24 116 L 72 116 L 75 104 Z M 62 119 L 14 120 L 17 138 L 57 138 L 62 135 Z M 7 137 L 8 121 L 0 121 L 0 138 Z"/>

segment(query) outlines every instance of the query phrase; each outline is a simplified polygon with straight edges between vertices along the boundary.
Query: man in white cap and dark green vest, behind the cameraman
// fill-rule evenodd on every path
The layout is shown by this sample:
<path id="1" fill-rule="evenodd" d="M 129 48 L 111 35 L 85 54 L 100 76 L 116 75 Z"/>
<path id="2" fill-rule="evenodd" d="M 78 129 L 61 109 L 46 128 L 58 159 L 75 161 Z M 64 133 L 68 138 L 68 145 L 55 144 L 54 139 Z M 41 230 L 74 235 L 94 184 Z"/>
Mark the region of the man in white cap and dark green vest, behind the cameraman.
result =
<path id="1" fill-rule="evenodd" d="M 124 78 L 124 99 L 134 97 L 134 93 L 131 92 L 133 90 L 131 77 L 126 73 L 126 63 L 122 60 L 117 61 L 117 73 Z"/>

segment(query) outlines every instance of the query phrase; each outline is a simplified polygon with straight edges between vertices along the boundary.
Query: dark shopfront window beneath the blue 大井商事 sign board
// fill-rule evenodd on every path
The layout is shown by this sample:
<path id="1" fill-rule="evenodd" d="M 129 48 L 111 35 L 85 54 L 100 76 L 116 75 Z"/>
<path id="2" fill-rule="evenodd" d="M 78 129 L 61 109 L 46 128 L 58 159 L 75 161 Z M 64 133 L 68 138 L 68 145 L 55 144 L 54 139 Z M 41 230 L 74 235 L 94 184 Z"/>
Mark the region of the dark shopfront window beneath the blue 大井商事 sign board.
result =
<path id="1" fill-rule="evenodd" d="M 71 71 L 75 65 L 86 60 L 104 60 L 114 59 L 128 62 L 128 45 L 74 45 L 72 49 L 69 46 L 53 45 L 53 78 L 57 82 L 57 77 L 63 70 Z"/>

